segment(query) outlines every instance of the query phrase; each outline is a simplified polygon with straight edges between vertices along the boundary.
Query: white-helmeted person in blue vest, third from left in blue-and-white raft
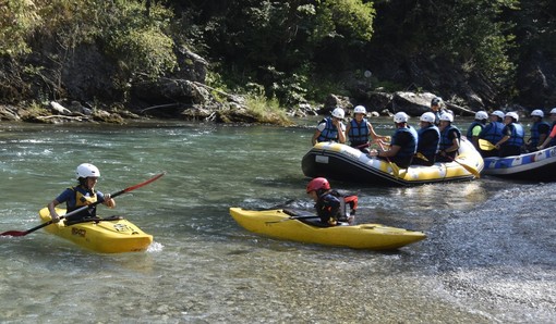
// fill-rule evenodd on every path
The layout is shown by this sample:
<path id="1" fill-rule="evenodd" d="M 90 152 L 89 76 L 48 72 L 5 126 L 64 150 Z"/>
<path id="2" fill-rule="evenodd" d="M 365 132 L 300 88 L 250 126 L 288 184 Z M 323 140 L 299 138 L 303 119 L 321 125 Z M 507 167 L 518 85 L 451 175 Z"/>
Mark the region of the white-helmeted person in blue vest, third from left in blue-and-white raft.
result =
<path id="1" fill-rule="evenodd" d="M 525 132 L 519 124 L 519 115 L 516 112 L 508 112 L 504 117 L 506 126 L 501 129 L 503 137 L 494 147 L 497 148 L 499 157 L 511 157 L 521 154 L 525 144 Z"/>

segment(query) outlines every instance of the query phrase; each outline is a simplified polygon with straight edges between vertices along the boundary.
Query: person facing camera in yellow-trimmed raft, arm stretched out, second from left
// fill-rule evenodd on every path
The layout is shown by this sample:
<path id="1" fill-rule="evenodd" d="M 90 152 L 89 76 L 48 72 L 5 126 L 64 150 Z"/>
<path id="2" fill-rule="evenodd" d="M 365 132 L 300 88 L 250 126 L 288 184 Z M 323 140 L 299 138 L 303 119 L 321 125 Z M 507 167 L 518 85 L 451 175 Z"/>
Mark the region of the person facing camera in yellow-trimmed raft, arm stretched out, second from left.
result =
<path id="1" fill-rule="evenodd" d="M 368 153 L 368 137 L 373 141 L 386 140 L 387 136 L 380 136 L 375 133 L 373 125 L 365 119 L 366 109 L 363 105 L 355 105 L 353 109 L 353 120 L 348 123 L 346 128 L 346 137 L 350 141 L 350 146 Z"/>

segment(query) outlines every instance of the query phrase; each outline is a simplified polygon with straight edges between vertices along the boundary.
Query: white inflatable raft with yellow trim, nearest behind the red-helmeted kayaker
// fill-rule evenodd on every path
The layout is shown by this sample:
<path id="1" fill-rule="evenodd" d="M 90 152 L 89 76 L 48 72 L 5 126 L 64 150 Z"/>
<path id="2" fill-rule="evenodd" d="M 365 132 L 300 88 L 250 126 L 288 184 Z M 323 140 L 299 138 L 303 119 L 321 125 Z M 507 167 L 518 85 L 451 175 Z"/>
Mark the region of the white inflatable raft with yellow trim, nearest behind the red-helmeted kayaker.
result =
<path id="1" fill-rule="evenodd" d="M 401 169 L 387 160 L 371 158 L 347 145 L 318 142 L 303 157 L 301 167 L 303 174 L 309 177 L 324 176 L 337 180 L 383 186 L 472 180 L 475 176 L 462 164 L 476 170 L 478 174 L 484 167 L 483 158 L 464 137 L 461 138 L 456 161 L 438 162 L 432 166 L 410 165 L 408 169 Z"/>

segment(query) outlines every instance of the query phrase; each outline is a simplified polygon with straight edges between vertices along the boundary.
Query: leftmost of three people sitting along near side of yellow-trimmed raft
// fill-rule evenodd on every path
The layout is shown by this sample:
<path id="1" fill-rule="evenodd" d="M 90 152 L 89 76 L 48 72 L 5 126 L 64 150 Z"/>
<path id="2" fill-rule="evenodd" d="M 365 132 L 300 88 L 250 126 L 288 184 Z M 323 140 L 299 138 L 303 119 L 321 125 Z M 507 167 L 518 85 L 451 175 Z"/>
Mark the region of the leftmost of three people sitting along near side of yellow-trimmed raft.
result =
<path id="1" fill-rule="evenodd" d="M 372 150 L 368 155 L 386 159 L 400 167 L 408 167 L 413 161 L 416 152 L 418 133 L 415 128 L 408 125 L 409 116 L 404 112 L 394 115 L 396 132 L 391 136 L 388 150 Z"/>

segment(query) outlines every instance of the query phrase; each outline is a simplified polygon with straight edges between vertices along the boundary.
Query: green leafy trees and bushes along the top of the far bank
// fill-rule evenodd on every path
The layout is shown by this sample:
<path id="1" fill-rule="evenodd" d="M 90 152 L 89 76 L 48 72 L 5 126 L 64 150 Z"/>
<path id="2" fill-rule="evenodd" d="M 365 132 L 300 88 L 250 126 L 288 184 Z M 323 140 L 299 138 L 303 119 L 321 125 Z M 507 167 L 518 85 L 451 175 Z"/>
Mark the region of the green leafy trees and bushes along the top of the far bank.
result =
<path id="1" fill-rule="evenodd" d="M 56 97 L 49 91 L 61 91 L 69 53 L 88 43 L 113 61 L 113 85 L 121 91 L 138 79 L 170 75 L 180 66 L 178 48 L 186 47 L 210 62 L 211 87 L 249 92 L 249 85 L 256 84 L 262 92 L 255 102 L 267 98 L 273 105 L 322 100 L 326 92 L 349 94 L 346 75 L 370 62 L 386 66 L 388 60 L 414 57 L 442 58 L 484 77 L 500 96 L 519 95 L 520 60 L 539 52 L 556 57 L 555 3 L 0 0 L 0 92 L 22 92 L 8 80 L 24 85 L 33 76 L 26 71 L 47 79 L 40 62 L 27 63 L 29 55 L 41 53 L 56 62 L 58 70 L 51 74 L 58 77 L 35 94 Z M 16 64 L 21 68 L 13 68 Z M 374 74 L 373 84 L 407 87 L 396 74 Z"/>

